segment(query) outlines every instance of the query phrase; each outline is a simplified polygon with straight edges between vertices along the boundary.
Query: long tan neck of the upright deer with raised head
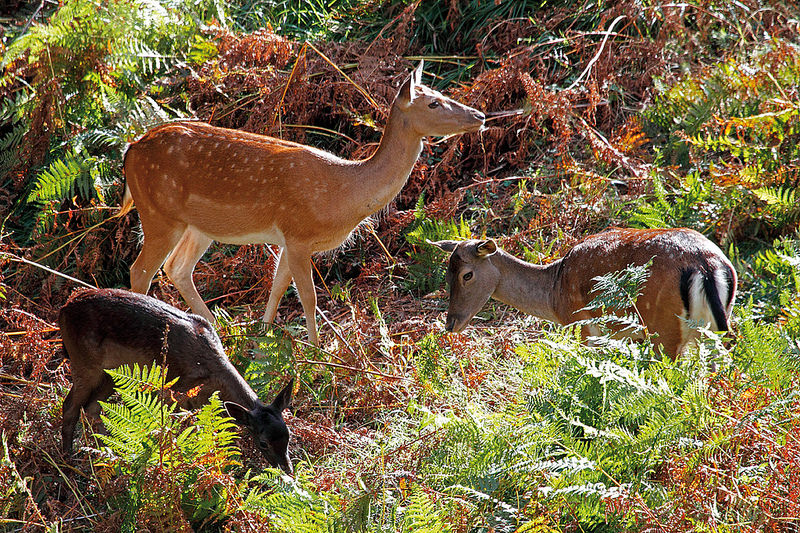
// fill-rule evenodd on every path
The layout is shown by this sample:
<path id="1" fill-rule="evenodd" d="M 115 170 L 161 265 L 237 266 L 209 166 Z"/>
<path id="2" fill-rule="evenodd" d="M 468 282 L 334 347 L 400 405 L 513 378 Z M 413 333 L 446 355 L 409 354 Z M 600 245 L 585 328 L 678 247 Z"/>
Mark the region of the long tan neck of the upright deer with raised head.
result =
<path id="1" fill-rule="evenodd" d="M 355 163 L 352 185 L 359 205 L 352 212 L 362 220 L 386 207 L 408 181 L 414 163 L 422 152 L 422 135 L 409 117 L 392 106 L 378 149 L 372 156 Z"/>

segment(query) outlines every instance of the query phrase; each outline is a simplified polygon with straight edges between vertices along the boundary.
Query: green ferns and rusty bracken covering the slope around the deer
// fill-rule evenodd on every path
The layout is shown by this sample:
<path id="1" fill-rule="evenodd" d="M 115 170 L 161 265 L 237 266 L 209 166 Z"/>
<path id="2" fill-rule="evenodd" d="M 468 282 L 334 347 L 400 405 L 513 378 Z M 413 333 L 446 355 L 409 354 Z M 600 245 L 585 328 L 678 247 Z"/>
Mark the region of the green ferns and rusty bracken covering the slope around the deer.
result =
<path id="1" fill-rule="evenodd" d="M 800 9 L 794 2 L 11 2 L 0 77 L 0 530 L 795 531 L 800 527 Z M 6 8 L 2 8 L 6 9 Z M 126 287 L 126 143 L 181 117 L 365 157 L 411 66 L 487 112 L 426 144 L 393 206 L 315 258 L 322 347 L 274 260 L 214 245 L 195 280 L 264 398 L 299 384 L 293 477 L 217 399 L 113 372 L 60 452 L 57 315 Z M 365 95 L 369 95 L 367 98 Z M 676 361 L 586 346 L 490 302 L 443 331 L 445 258 L 489 236 L 549 262 L 609 226 L 680 227 L 739 274 L 733 331 Z M 601 282 L 635 298 L 646 272 Z M 151 294 L 185 308 L 158 276 Z M 633 319 L 633 317 L 631 317 Z"/>

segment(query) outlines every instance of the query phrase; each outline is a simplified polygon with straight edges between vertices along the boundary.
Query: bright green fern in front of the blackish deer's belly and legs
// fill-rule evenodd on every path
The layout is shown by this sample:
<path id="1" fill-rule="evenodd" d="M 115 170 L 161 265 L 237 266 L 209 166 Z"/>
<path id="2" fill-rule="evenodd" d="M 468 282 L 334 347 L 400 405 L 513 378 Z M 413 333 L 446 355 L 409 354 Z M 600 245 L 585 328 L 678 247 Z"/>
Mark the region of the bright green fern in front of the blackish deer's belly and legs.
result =
<path id="1" fill-rule="evenodd" d="M 127 485 L 110 502 L 125 516 L 123 529 L 190 531 L 191 524 L 223 520 L 228 498 L 237 497 L 231 471 L 239 452 L 234 446 L 236 424 L 218 395 L 186 425 L 188 413 L 179 415 L 174 403 L 159 397 L 174 383 L 166 382 L 163 367 L 135 365 L 108 373 L 122 402 L 101 402 L 108 434 L 96 437 L 109 458 L 108 474 Z"/>

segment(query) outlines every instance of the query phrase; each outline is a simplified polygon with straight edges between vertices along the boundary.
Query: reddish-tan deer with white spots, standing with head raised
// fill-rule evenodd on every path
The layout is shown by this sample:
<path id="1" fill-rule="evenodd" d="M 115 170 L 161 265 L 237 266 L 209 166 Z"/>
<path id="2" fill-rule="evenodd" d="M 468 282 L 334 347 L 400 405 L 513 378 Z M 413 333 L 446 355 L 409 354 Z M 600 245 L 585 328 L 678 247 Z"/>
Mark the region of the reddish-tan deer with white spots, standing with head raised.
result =
<path id="1" fill-rule="evenodd" d="M 132 290 L 146 294 L 163 264 L 192 310 L 213 321 L 192 281 L 211 242 L 277 244 L 282 253 L 264 321 L 273 321 L 294 279 L 309 341 L 318 345 L 311 255 L 340 246 L 400 192 L 424 137 L 483 127 L 483 113 L 420 85 L 422 65 L 400 87 L 368 159 L 198 122 L 163 124 L 131 144 L 119 214 L 135 201 L 144 233 Z"/>

